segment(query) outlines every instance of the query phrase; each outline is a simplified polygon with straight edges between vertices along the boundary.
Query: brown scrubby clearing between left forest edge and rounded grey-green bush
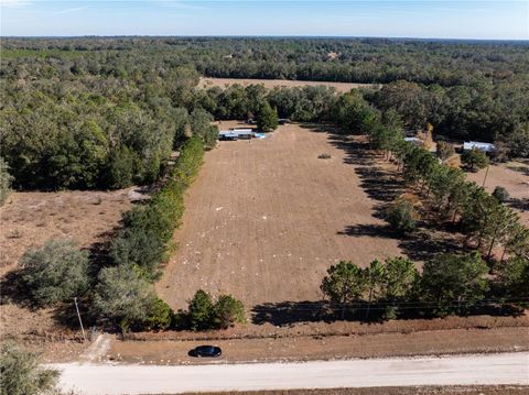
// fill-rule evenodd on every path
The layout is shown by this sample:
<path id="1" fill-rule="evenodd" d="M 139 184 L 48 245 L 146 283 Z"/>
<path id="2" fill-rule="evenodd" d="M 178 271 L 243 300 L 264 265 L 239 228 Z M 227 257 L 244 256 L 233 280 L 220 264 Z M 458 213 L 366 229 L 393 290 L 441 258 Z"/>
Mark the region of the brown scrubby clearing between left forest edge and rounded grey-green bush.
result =
<path id="1" fill-rule="evenodd" d="M 129 190 L 13 193 L 0 208 L 0 275 L 12 270 L 30 245 L 67 238 L 80 246 L 101 241 L 130 209 Z"/>

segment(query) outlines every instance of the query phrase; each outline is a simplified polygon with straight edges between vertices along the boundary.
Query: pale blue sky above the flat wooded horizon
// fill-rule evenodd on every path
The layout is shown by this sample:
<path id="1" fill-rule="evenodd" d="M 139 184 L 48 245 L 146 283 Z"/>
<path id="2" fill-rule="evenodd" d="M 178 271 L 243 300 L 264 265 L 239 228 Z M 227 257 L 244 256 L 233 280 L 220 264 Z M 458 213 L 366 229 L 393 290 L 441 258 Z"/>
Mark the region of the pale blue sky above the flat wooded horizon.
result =
<path id="1" fill-rule="evenodd" d="M 1 36 L 294 35 L 529 40 L 529 0 L 0 0 Z"/>

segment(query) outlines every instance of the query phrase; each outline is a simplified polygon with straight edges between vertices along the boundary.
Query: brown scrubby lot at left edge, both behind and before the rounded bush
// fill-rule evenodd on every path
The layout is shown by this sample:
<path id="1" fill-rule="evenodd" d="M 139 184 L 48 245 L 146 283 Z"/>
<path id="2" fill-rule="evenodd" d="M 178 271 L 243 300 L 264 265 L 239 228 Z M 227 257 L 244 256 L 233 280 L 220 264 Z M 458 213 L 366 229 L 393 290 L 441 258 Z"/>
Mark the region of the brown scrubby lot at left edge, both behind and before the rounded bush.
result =
<path id="1" fill-rule="evenodd" d="M 104 242 L 118 226 L 121 213 L 130 209 L 131 189 L 104 191 L 13 193 L 0 208 L 0 276 L 17 268 L 19 259 L 31 245 L 53 238 L 67 238 L 82 248 Z M 67 358 L 82 347 L 79 333 L 57 326 L 54 309 L 31 310 L 6 300 L 0 305 L 0 339 L 15 338 L 48 355 Z M 57 347 L 58 345 L 58 347 Z"/>

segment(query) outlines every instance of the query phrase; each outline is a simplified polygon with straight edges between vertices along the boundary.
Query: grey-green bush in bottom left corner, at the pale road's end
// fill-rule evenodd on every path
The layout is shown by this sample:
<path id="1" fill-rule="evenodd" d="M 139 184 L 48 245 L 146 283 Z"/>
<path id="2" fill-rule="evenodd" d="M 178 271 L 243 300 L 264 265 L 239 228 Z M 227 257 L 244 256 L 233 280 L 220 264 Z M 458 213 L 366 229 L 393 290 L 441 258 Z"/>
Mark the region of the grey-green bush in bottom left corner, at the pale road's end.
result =
<path id="1" fill-rule="evenodd" d="M 39 395 L 56 389 L 60 373 L 39 365 L 39 356 L 13 342 L 1 345 L 0 394 Z"/>

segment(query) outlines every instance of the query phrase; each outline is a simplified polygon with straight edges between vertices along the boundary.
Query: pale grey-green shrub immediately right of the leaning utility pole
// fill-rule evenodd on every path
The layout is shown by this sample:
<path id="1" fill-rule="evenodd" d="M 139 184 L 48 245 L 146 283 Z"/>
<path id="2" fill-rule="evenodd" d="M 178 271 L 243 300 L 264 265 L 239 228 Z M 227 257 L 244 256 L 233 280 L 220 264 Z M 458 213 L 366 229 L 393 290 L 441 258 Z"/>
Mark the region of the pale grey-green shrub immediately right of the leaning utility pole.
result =
<path id="1" fill-rule="evenodd" d="M 125 332 L 131 325 L 147 321 L 156 310 L 156 295 L 151 284 L 129 265 L 106 267 L 98 276 L 94 308 Z"/>

